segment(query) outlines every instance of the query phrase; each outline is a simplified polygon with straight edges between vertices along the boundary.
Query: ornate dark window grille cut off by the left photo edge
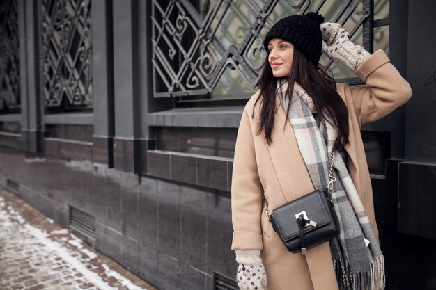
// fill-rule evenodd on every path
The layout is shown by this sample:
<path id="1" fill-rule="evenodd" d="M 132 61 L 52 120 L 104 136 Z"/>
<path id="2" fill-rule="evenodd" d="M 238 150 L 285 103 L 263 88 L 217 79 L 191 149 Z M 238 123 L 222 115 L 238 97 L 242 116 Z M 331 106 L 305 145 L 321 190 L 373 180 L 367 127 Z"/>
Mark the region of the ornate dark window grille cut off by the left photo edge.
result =
<path id="1" fill-rule="evenodd" d="M 20 112 L 17 0 L 0 1 L 0 113 Z"/>

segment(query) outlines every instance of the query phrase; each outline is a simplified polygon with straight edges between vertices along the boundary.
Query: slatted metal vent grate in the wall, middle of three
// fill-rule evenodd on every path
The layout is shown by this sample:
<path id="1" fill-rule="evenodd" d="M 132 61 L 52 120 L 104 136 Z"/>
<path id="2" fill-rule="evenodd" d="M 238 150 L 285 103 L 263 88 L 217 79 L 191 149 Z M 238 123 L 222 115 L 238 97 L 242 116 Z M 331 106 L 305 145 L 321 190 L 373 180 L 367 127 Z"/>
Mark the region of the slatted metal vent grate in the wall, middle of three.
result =
<path id="1" fill-rule="evenodd" d="M 70 207 L 70 229 L 88 239 L 89 243 L 95 242 L 95 217 Z"/>

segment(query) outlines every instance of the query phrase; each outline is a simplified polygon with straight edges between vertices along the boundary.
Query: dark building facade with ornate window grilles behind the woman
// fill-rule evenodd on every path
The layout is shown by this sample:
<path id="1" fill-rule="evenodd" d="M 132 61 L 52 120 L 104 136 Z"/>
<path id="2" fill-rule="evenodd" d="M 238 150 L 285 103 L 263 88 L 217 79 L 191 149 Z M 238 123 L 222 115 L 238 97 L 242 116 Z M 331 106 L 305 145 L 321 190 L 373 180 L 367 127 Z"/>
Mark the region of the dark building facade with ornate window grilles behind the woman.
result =
<path id="1" fill-rule="evenodd" d="M 0 185 L 158 289 L 237 289 L 240 117 L 267 30 L 313 10 L 412 86 L 362 136 L 387 289 L 436 289 L 435 1 L 3 0 Z"/>

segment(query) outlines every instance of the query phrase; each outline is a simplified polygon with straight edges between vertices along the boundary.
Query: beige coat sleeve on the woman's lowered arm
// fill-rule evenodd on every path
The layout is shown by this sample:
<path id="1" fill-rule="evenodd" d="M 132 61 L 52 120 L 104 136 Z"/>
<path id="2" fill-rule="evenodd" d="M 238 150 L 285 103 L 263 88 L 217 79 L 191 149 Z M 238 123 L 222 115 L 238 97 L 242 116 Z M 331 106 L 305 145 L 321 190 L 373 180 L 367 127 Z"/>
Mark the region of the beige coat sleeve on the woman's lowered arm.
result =
<path id="1" fill-rule="evenodd" d="M 232 250 L 263 249 L 260 227 L 263 187 L 258 175 L 254 133 L 249 119 L 251 114 L 247 107 L 249 106 L 246 106 L 242 114 L 233 159 L 231 186 Z"/>

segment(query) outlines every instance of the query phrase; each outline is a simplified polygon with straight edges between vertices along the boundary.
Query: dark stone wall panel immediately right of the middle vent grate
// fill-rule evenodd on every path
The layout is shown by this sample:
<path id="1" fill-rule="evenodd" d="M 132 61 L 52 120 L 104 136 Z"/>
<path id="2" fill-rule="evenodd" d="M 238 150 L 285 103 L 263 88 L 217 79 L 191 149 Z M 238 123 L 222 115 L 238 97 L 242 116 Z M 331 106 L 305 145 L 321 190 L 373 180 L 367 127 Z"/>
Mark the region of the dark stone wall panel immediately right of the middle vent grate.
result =
<path id="1" fill-rule="evenodd" d="M 95 231 L 95 248 L 115 261 L 122 261 L 123 236 L 99 223 Z"/>

